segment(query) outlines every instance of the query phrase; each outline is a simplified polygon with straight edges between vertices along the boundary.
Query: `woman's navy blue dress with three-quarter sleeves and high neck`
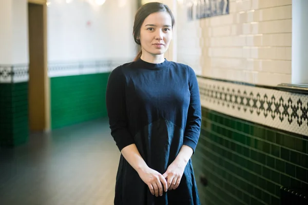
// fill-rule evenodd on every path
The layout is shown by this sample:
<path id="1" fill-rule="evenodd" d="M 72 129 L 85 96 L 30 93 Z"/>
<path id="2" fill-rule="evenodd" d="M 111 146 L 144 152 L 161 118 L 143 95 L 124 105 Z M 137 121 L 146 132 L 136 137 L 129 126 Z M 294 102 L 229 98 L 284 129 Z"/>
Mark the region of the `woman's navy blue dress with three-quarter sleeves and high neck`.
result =
<path id="1" fill-rule="evenodd" d="M 106 106 L 119 150 L 136 144 L 151 169 L 165 173 L 182 145 L 195 152 L 201 104 L 197 77 L 189 66 L 166 59 L 161 64 L 139 59 L 119 66 L 108 79 Z M 156 197 L 121 155 L 114 204 L 200 204 L 191 160 L 179 187 Z"/>

